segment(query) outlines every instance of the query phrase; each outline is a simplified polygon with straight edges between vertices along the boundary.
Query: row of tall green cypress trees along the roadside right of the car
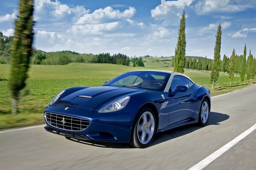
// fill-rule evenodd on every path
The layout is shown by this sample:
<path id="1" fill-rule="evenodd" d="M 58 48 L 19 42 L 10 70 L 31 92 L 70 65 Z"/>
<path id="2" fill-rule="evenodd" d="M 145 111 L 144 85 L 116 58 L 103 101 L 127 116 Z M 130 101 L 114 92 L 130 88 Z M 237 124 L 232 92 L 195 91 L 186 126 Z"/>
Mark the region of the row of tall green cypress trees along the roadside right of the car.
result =
<path id="1" fill-rule="evenodd" d="M 219 72 L 229 74 L 230 86 L 235 74 L 240 75 L 241 82 L 244 81 L 245 76 L 247 77 L 247 80 L 254 79 L 256 74 L 256 58 L 253 59 L 251 51 L 249 52 L 248 58 L 246 57 L 246 44 L 244 45 L 243 55 L 237 55 L 235 49 L 233 49 L 230 58 L 224 55 L 221 60 L 221 24 L 218 25 L 217 33 L 215 35 L 216 41 L 213 60 L 207 59 L 207 57 L 204 59 L 185 57 L 185 21 L 185 11 L 183 10 L 180 19 L 177 46 L 175 48 L 175 57 L 173 58 L 174 71 L 184 73 L 184 68 L 211 71 L 210 83 L 212 84 L 212 90 L 214 89 L 214 84 L 218 80 Z"/>

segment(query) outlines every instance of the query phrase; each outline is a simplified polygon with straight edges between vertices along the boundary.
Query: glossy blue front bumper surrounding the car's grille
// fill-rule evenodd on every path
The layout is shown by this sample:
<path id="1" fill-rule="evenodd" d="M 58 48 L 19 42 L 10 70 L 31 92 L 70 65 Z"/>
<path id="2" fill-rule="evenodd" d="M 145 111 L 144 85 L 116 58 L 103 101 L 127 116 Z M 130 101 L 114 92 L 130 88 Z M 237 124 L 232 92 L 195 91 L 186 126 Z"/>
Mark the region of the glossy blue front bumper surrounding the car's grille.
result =
<path id="1" fill-rule="evenodd" d="M 127 107 L 111 113 L 98 113 L 98 111 L 66 106 L 50 106 L 45 113 L 55 113 L 72 116 L 90 121 L 84 130 L 65 130 L 50 125 L 44 116 L 48 132 L 79 140 L 93 140 L 99 142 L 129 142 L 131 138 L 132 122 L 136 111 Z"/>

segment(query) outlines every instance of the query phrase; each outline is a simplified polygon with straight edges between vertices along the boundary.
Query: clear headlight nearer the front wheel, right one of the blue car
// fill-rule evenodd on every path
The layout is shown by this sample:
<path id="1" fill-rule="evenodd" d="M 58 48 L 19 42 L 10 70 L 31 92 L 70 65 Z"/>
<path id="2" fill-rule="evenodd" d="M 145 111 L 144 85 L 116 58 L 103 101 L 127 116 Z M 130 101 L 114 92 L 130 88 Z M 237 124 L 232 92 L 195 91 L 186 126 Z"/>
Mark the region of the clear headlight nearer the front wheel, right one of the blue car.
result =
<path id="1" fill-rule="evenodd" d="M 127 105 L 130 100 L 130 96 L 126 96 L 122 99 L 118 99 L 110 104 L 106 105 L 104 108 L 99 110 L 99 113 L 107 113 L 107 112 L 114 112 L 119 111 Z"/>

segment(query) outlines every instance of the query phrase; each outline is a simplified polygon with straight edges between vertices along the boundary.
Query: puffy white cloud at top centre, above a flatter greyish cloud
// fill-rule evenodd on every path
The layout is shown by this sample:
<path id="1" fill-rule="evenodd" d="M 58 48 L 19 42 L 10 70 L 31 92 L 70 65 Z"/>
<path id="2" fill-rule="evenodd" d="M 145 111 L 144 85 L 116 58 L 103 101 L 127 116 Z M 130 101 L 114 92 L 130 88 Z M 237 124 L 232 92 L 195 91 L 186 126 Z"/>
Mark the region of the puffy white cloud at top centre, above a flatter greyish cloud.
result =
<path id="1" fill-rule="evenodd" d="M 84 14 L 82 17 L 79 18 L 77 24 L 96 24 L 101 23 L 104 20 L 131 18 L 134 16 L 135 13 L 136 9 L 134 7 L 129 7 L 129 9 L 125 9 L 125 11 L 120 12 L 118 9 L 114 10 L 112 7 L 108 6 L 104 9 L 96 9 L 91 14 Z"/>

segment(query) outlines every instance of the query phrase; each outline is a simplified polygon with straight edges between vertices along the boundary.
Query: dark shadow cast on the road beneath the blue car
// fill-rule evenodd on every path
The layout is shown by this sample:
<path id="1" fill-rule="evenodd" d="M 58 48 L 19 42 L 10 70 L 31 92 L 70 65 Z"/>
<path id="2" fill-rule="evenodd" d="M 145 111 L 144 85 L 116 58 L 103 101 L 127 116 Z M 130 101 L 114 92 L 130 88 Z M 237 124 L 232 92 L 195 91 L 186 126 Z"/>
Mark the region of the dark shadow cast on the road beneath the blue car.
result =
<path id="1" fill-rule="evenodd" d="M 207 123 L 207 126 L 209 125 L 220 125 L 220 122 L 223 122 L 227 119 L 229 119 L 229 115 L 224 113 L 217 113 L 217 112 L 210 112 L 210 119 Z M 204 128 L 202 126 L 199 126 L 197 124 L 191 124 L 191 125 L 184 125 L 180 127 L 176 127 L 170 130 L 166 130 L 164 132 L 157 133 L 156 136 L 153 139 L 153 142 L 150 144 L 149 147 L 154 146 L 156 144 L 160 144 L 162 142 L 166 142 L 171 139 L 175 139 L 177 137 L 186 135 L 188 133 L 192 133 L 195 130 Z M 95 142 L 95 141 L 87 141 L 87 140 L 76 140 L 76 139 L 68 139 L 74 142 L 78 142 L 81 144 L 87 144 L 91 146 L 96 147 L 108 147 L 108 148 L 133 148 L 127 143 L 114 143 L 114 142 Z"/>

